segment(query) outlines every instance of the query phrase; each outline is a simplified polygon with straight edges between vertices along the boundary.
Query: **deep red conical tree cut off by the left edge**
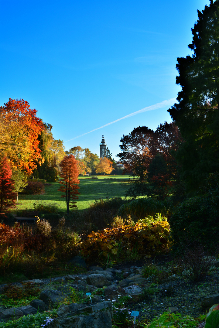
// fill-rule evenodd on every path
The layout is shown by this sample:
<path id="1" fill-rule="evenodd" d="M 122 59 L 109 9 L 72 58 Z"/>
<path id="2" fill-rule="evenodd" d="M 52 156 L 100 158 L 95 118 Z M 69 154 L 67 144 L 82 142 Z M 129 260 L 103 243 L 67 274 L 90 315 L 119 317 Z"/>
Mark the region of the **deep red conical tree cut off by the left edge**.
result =
<path id="1" fill-rule="evenodd" d="M 0 213 L 15 206 L 15 193 L 11 180 L 12 171 L 10 162 L 3 154 L 0 157 Z"/>

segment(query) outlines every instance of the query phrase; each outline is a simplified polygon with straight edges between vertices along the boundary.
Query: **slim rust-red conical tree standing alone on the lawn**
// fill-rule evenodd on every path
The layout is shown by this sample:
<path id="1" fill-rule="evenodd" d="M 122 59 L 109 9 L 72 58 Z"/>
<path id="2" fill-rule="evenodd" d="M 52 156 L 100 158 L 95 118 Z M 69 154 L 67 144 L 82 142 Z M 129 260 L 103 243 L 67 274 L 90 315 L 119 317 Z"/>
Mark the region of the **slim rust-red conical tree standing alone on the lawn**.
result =
<path id="1" fill-rule="evenodd" d="M 77 161 L 73 155 L 68 155 L 63 158 L 59 166 L 61 168 L 60 175 L 63 180 L 59 181 L 62 186 L 58 190 L 65 193 L 61 197 L 66 198 L 67 213 L 69 214 L 69 208 L 77 207 L 75 202 L 70 202 L 70 199 L 78 199 L 79 195 L 77 190 L 79 189 L 78 184 L 80 181 L 78 180 Z"/>

